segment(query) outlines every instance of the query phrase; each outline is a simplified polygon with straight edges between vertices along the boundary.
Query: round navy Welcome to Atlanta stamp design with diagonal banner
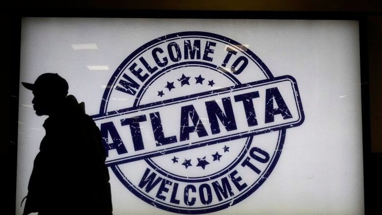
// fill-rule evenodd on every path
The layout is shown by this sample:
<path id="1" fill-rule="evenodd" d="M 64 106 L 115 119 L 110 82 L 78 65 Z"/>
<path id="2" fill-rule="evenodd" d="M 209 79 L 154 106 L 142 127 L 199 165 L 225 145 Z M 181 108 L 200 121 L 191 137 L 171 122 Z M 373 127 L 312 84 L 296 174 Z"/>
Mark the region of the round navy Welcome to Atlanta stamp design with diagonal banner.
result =
<path id="1" fill-rule="evenodd" d="M 259 189 L 304 112 L 293 77 L 274 77 L 232 39 L 190 31 L 132 52 L 93 118 L 106 164 L 129 191 L 166 211 L 204 214 Z"/>

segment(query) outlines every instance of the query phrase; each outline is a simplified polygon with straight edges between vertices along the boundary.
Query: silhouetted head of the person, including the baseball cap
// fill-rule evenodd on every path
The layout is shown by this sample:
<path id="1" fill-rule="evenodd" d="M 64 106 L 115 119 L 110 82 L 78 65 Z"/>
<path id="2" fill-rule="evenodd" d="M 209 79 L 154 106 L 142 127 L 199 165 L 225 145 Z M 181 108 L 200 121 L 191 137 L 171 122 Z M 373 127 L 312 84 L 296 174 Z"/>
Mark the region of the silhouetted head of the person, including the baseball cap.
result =
<path id="1" fill-rule="evenodd" d="M 38 116 L 54 113 L 68 95 L 68 82 L 57 73 L 44 73 L 34 84 L 22 82 L 33 93 L 33 109 Z"/>

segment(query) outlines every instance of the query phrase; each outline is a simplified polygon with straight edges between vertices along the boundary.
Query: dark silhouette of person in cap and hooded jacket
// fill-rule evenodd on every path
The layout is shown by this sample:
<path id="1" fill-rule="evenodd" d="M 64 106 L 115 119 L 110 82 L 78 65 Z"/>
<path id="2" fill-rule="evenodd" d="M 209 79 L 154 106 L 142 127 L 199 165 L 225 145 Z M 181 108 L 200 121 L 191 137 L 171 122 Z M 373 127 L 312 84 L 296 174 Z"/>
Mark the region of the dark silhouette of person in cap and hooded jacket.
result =
<path id="1" fill-rule="evenodd" d="M 85 105 L 68 96 L 68 82 L 57 73 L 44 73 L 31 90 L 37 116 L 48 115 L 28 184 L 24 215 L 112 215 L 105 149 Z"/>

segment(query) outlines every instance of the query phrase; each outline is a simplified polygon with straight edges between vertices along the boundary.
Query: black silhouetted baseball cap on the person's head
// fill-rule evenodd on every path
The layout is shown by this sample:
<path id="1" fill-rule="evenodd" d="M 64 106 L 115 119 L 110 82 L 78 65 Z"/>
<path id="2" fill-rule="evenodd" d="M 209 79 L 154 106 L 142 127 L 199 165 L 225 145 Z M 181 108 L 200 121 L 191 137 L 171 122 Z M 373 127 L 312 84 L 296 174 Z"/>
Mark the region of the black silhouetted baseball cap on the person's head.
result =
<path id="1" fill-rule="evenodd" d="M 68 95 L 68 82 L 57 73 L 44 73 L 36 81 L 31 83 L 21 82 L 23 86 L 31 91 L 54 93 L 57 95 Z"/>

